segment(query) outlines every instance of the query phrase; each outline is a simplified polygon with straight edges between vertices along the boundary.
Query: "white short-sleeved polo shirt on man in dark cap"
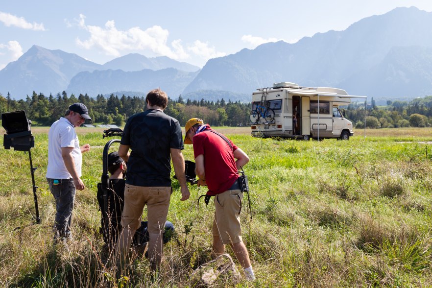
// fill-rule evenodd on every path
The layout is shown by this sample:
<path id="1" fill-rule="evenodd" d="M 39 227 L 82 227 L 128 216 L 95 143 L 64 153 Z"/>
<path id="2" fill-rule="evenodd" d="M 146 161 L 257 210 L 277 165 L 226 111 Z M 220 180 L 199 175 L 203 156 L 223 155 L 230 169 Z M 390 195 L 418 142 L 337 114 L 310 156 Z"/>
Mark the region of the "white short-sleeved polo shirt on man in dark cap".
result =
<path id="1" fill-rule="evenodd" d="M 72 157 L 76 173 L 81 177 L 82 154 L 75 127 L 64 117 L 52 123 L 48 132 L 48 168 L 47 178 L 69 179 L 72 175 L 65 166 L 62 147 L 73 147 Z"/>

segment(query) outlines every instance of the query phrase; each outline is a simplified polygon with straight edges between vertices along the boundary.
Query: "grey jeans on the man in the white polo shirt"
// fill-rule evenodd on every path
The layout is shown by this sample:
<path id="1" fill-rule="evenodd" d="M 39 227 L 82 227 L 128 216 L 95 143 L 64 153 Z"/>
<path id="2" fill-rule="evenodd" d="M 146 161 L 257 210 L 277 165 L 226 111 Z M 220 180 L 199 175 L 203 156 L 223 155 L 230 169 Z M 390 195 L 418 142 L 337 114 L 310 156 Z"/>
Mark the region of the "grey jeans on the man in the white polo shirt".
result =
<path id="1" fill-rule="evenodd" d="M 72 238 L 71 220 L 73 201 L 75 200 L 75 185 L 73 179 L 47 178 L 49 190 L 55 198 L 55 235 L 54 239 Z M 55 183 L 54 183 L 55 182 Z"/>

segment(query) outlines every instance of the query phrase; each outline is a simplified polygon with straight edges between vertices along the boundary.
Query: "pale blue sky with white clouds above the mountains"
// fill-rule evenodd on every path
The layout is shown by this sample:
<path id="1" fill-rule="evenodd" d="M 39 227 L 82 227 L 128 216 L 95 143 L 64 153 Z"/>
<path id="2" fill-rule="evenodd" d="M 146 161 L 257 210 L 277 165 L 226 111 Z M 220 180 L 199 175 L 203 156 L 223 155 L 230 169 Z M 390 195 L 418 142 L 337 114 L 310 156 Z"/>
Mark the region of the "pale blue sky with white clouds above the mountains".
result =
<path id="1" fill-rule="evenodd" d="M 0 5 L 0 69 L 31 46 L 104 64 L 129 53 L 207 60 L 266 42 L 344 30 L 396 7 L 431 0 L 16 0 Z"/>

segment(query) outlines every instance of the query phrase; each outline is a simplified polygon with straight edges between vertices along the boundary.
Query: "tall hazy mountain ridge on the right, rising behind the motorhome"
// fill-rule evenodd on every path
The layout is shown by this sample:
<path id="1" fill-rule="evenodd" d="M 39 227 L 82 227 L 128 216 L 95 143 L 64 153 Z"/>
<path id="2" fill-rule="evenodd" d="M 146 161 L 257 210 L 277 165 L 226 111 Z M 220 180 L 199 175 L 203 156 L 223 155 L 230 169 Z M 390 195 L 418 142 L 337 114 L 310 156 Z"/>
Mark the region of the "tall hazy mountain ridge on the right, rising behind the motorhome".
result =
<path id="1" fill-rule="evenodd" d="M 302 86 L 339 87 L 353 93 L 350 86 L 341 85 L 353 75 L 372 69 L 392 48 L 432 47 L 431 26 L 432 13 L 415 7 L 397 8 L 384 15 L 362 19 L 346 30 L 317 33 L 295 44 L 280 41 L 254 50 L 243 49 L 209 60 L 184 93 L 201 89 L 251 93 L 280 81 Z M 381 75 L 379 79 L 387 76 Z M 358 78 L 357 82 L 365 83 L 365 80 Z M 432 93 L 432 86 L 423 90 Z M 357 94 L 368 92 L 368 96 L 376 97 L 405 96 L 402 91 L 397 86 L 389 87 L 386 95 L 380 95 L 373 89 L 364 92 L 356 89 Z M 411 96 L 417 95 L 412 93 Z"/>

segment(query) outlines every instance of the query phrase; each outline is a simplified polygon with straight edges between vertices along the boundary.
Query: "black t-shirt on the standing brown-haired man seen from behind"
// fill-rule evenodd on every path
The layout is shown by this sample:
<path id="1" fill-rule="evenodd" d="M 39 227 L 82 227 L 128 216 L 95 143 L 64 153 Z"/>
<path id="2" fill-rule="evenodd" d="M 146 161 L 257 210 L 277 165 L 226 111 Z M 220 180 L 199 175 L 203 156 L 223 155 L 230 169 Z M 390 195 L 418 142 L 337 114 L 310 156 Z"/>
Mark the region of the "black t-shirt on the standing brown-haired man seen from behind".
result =
<path id="1" fill-rule="evenodd" d="M 126 184 L 144 187 L 171 186 L 170 148 L 184 149 L 179 122 L 160 110 L 131 116 L 120 144 L 130 146 Z"/>

